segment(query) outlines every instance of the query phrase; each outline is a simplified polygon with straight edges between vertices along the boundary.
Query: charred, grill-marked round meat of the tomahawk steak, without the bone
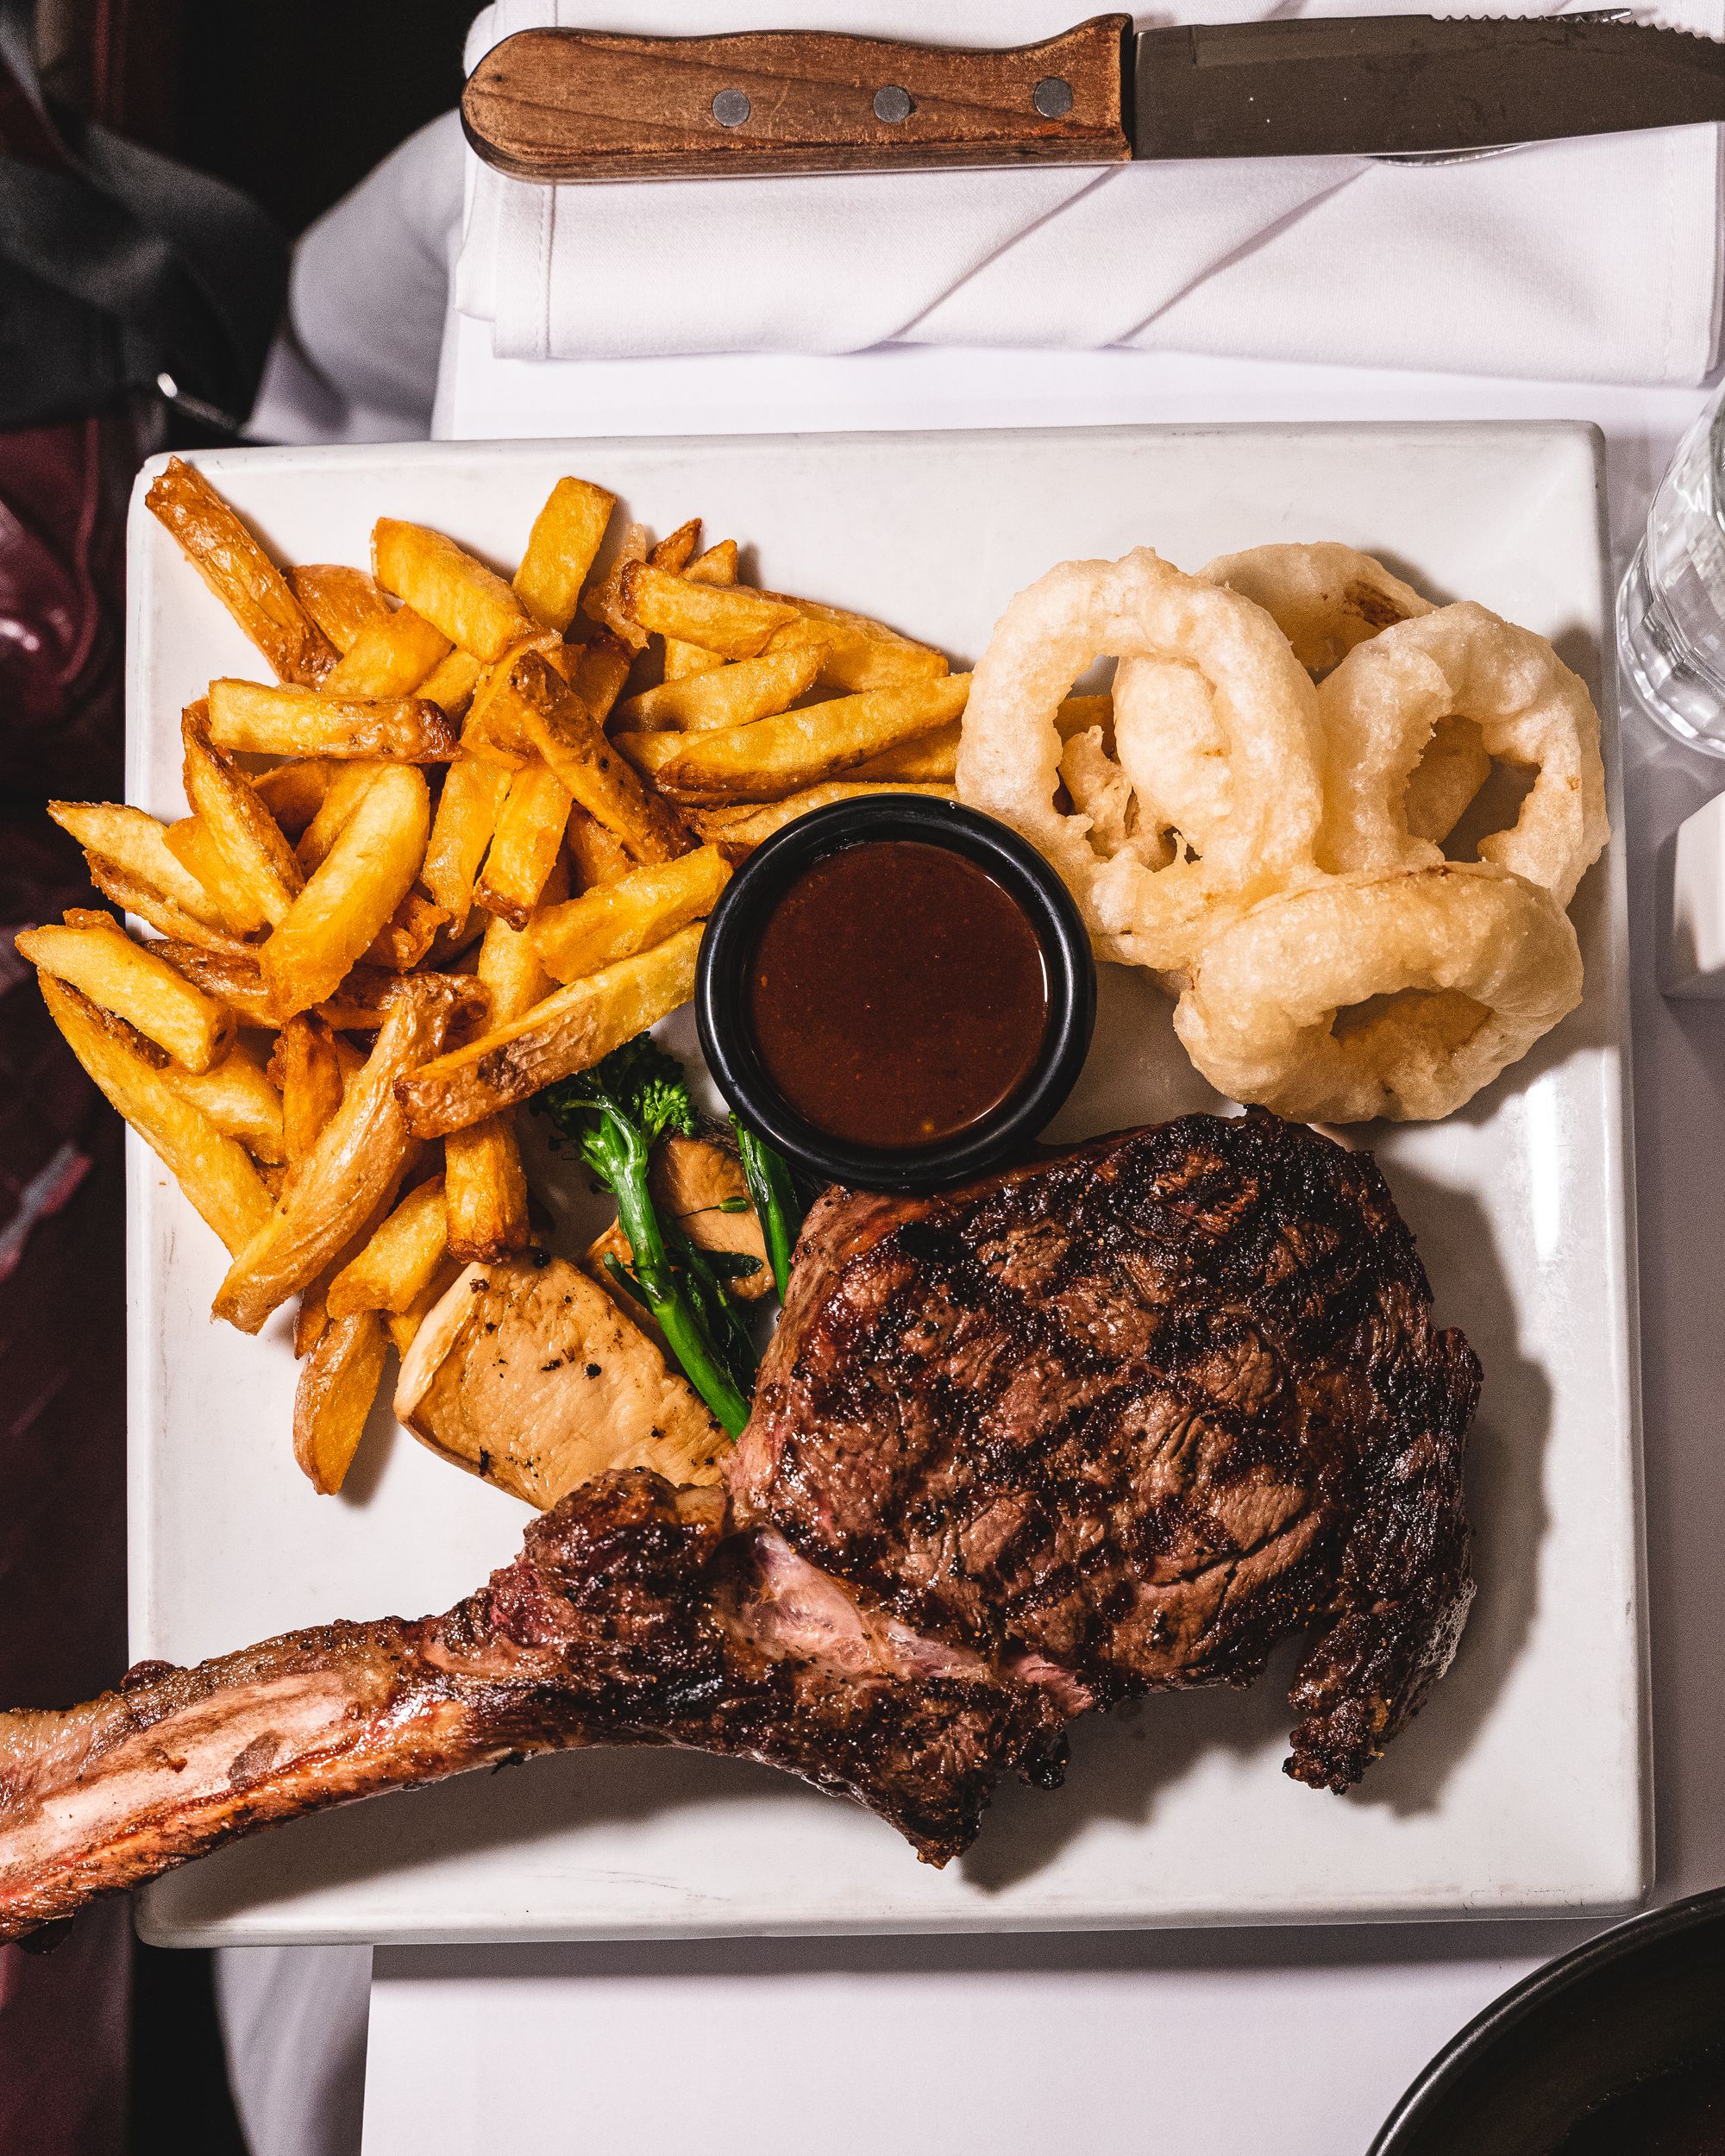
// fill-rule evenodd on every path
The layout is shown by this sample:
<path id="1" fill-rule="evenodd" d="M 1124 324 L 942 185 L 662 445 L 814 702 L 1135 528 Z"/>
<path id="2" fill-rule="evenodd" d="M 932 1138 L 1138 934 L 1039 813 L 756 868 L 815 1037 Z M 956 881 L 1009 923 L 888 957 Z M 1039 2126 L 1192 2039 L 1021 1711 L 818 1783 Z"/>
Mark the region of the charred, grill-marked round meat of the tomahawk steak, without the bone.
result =
<path id="1" fill-rule="evenodd" d="M 828 1192 L 731 1488 L 919 1632 L 1102 1705 L 1246 1684 L 1317 1626 L 1287 1770 L 1346 1789 L 1473 1598 L 1477 1391 L 1369 1156 L 1190 1115 L 947 1197 Z"/>

